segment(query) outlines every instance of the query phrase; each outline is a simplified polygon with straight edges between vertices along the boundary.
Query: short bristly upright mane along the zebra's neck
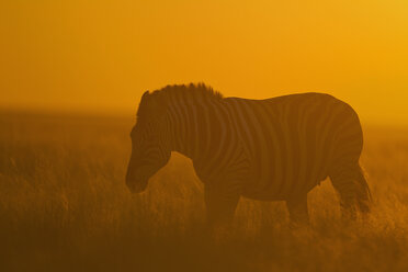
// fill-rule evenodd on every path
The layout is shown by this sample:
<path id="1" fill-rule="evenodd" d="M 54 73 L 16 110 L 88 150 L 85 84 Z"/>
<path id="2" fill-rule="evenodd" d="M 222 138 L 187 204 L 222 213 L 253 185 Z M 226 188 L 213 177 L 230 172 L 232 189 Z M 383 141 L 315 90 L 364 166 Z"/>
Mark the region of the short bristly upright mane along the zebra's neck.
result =
<path id="1" fill-rule="evenodd" d="M 204 83 L 190 83 L 190 84 L 169 84 L 151 93 L 148 91 L 143 95 L 139 107 L 137 110 L 137 116 L 148 116 L 152 114 L 151 101 L 158 104 L 156 110 L 165 109 L 167 102 L 172 100 L 223 100 L 224 95 L 215 91 L 213 88 L 205 86 Z"/>

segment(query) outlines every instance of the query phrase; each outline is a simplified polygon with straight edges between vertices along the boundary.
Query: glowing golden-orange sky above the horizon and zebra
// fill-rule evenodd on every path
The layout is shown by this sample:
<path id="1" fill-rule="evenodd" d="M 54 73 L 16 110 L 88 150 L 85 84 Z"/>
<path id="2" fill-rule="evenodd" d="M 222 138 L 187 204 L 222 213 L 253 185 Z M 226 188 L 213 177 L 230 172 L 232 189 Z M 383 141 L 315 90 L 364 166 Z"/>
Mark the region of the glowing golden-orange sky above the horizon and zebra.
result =
<path id="1" fill-rule="evenodd" d="M 406 0 L 2 0 L 0 32 L 2 107 L 134 113 L 147 89 L 203 81 L 408 124 Z"/>

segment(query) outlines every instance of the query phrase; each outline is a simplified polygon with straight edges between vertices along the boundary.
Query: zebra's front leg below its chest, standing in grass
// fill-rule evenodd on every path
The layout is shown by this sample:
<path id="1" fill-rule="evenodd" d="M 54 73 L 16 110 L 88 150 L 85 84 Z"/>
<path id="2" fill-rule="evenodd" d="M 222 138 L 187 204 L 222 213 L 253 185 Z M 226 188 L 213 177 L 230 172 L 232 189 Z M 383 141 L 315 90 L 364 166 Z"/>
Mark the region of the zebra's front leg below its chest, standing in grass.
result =
<path id="1" fill-rule="evenodd" d="M 239 192 L 206 185 L 205 206 L 207 226 L 211 231 L 223 231 L 230 227 L 240 197 Z"/>

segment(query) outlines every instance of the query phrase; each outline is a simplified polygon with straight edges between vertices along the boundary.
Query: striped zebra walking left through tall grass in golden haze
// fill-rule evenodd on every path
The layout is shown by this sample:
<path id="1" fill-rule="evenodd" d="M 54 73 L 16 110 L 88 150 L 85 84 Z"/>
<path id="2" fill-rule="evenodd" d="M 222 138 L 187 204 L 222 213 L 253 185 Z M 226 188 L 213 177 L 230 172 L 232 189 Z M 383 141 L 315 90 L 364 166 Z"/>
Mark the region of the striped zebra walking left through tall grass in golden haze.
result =
<path id="1" fill-rule="evenodd" d="M 328 177 L 343 216 L 370 212 L 355 111 L 325 93 L 265 100 L 224 98 L 204 83 L 146 91 L 131 132 L 126 184 L 145 191 L 171 151 L 204 183 L 209 225 L 234 218 L 239 199 L 285 201 L 291 223 L 308 223 L 307 194 Z"/>

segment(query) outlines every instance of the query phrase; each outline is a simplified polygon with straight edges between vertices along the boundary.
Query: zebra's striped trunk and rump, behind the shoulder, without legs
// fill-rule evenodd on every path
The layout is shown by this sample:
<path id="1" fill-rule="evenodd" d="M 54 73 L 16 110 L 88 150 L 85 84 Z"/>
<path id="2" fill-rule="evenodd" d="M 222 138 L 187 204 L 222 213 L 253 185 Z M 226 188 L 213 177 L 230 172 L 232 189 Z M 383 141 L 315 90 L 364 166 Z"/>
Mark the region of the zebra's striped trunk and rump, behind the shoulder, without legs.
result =
<path id="1" fill-rule="evenodd" d="M 311 190 L 336 163 L 360 158 L 359 117 L 331 95 L 228 98 L 225 102 L 250 161 L 245 196 L 286 200 Z"/>

